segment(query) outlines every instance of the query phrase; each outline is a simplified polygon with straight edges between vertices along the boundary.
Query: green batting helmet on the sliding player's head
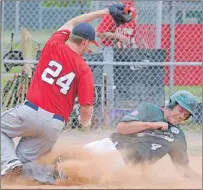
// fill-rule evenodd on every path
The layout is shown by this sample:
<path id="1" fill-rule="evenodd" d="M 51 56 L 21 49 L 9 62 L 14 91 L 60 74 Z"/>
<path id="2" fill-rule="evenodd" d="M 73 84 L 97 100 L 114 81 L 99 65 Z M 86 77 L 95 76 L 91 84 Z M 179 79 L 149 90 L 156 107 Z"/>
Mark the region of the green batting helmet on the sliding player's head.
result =
<path id="1" fill-rule="evenodd" d="M 197 101 L 190 92 L 178 91 L 170 97 L 168 108 L 172 109 L 177 104 L 189 111 L 193 116 Z"/>

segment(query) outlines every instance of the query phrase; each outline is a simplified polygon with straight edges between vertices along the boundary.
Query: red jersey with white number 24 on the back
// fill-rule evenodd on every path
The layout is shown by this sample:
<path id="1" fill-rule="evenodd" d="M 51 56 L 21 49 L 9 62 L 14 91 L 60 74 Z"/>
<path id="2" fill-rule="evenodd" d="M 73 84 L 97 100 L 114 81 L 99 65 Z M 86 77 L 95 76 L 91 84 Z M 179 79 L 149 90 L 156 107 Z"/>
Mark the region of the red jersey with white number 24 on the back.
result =
<path id="1" fill-rule="evenodd" d="M 78 96 L 80 105 L 93 105 L 90 67 L 65 42 L 70 31 L 54 33 L 46 43 L 27 92 L 27 100 L 67 121 Z"/>

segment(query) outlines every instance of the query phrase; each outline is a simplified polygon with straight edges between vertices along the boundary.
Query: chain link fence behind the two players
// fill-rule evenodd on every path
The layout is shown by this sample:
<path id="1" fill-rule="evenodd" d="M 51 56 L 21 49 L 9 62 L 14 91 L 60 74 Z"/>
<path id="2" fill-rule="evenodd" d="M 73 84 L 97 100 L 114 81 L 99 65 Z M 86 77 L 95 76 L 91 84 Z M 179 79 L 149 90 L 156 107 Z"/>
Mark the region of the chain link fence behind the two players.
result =
<path id="1" fill-rule="evenodd" d="M 95 80 L 92 127 L 115 127 L 124 114 L 141 102 L 164 106 L 178 90 L 196 95 L 198 105 L 189 123 L 201 126 L 202 2 L 129 0 L 128 3 L 137 12 L 130 23 L 117 28 L 108 16 L 91 23 L 100 42 L 99 48 L 92 48 L 92 53 L 84 56 Z M 98 0 L 4 0 L 2 110 L 25 100 L 41 49 L 52 33 L 69 19 L 108 4 Z M 29 56 L 22 42 L 23 29 L 29 31 Z M 124 37 L 110 39 L 106 33 Z M 25 65 L 32 68 L 31 72 L 25 72 Z M 78 114 L 76 100 L 69 127 L 78 127 Z"/>

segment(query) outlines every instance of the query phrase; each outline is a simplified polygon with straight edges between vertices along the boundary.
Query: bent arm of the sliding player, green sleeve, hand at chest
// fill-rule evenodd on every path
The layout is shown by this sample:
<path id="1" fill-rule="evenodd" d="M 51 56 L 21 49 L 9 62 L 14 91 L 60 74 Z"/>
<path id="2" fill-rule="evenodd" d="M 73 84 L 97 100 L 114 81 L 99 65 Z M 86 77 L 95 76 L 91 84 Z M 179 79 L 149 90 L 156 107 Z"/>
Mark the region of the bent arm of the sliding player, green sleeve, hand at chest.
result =
<path id="1" fill-rule="evenodd" d="M 116 127 L 116 132 L 120 134 L 136 134 L 147 129 L 168 129 L 168 124 L 165 122 L 149 122 L 150 115 L 147 104 L 141 104 L 121 120 Z"/>

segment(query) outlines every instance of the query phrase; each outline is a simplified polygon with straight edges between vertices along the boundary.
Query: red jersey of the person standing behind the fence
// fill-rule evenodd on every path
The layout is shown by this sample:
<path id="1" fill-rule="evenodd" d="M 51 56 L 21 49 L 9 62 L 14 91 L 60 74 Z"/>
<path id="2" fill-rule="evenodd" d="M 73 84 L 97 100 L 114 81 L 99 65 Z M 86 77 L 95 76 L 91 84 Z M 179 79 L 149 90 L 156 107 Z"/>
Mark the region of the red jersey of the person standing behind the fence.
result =
<path id="1" fill-rule="evenodd" d="M 97 32 L 104 33 L 104 32 L 112 32 L 112 33 L 118 33 L 123 34 L 129 38 L 129 40 L 133 43 L 134 42 L 134 31 L 135 31 L 135 21 L 131 21 L 129 23 L 125 23 L 123 25 L 120 25 L 119 27 L 116 27 L 116 24 L 113 21 L 113 18 L 111 15 L 106 15 L 101 20 Z M 105 46 L 112 46 L 113 40 L 111 39 L 102 39 L 102 44 Z M 116 41 L 115 46 L 117 47 L 123 47 L 125 46 L 122 44 L 122 42 Z"/>

